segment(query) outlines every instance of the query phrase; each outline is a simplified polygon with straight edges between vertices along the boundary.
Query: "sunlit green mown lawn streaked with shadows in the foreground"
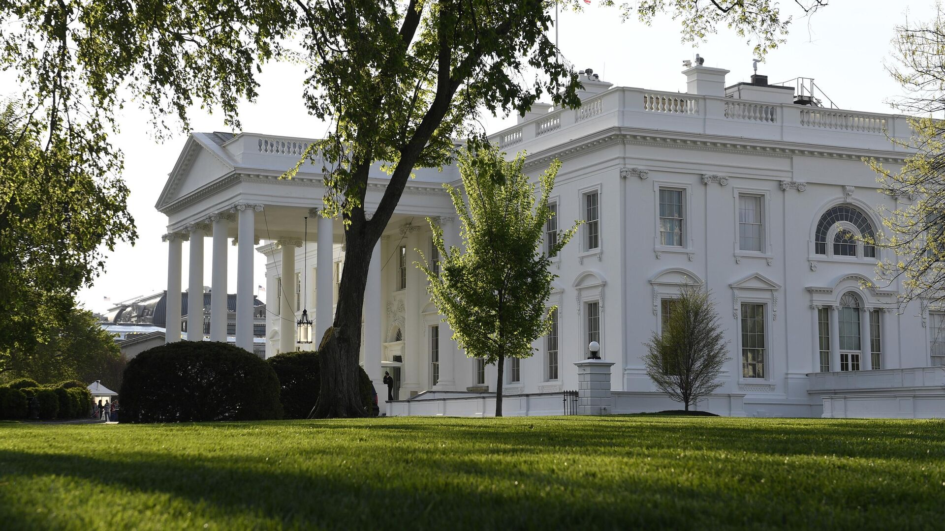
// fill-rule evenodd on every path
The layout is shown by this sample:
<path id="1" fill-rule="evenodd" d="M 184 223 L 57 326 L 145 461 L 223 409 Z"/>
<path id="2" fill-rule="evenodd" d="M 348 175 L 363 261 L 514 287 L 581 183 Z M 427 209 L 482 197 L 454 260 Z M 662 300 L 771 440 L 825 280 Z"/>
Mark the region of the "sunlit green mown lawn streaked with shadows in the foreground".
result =
<path id="1" fill-rule="evenodd" d="M 0 425 L 0 528 L 932 529 L 945 422 Z"/>

